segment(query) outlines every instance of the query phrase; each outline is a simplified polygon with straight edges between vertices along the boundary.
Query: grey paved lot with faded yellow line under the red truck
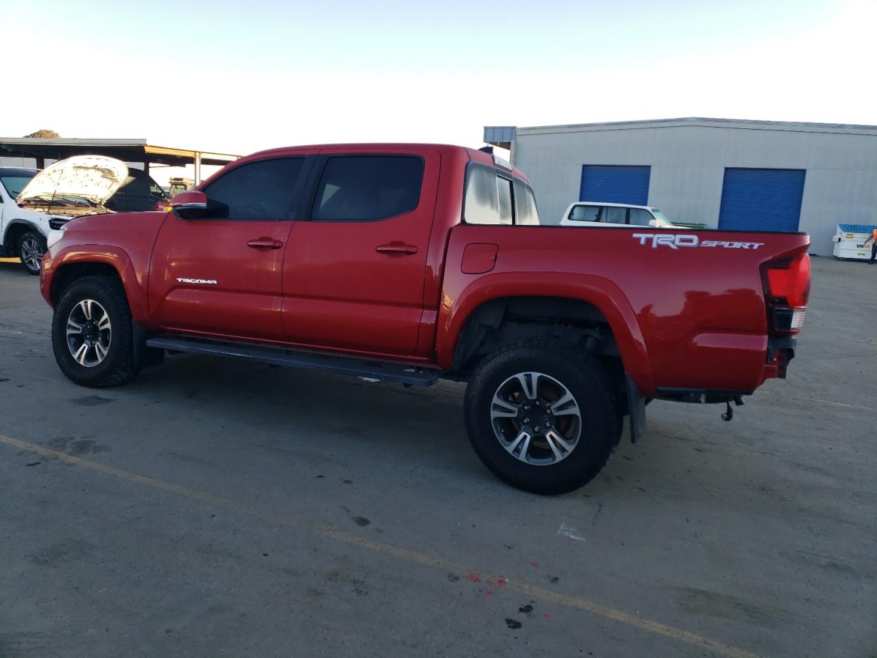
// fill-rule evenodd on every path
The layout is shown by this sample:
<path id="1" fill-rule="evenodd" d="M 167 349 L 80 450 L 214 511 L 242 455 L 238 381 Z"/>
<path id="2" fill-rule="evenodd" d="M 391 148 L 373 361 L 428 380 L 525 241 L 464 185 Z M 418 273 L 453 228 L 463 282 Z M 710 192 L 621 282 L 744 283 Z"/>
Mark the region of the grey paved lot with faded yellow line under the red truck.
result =
<path id="1" fill-rule="evenodd" d="M 481 466 L 463 389 L 55 365 L 0 261 L 0 656 L 877 656 L 877 267 L 814 259 L 787 381 L 655 403 L 583 490 Z"/>

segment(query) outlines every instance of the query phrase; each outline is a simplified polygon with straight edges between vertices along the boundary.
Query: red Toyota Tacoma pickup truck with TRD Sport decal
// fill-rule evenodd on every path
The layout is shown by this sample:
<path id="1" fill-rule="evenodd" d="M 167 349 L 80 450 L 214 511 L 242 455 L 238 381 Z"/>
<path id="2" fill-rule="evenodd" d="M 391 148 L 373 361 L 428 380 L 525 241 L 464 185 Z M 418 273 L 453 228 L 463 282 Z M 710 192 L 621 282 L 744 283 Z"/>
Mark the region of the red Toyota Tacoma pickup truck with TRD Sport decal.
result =
<path id="1" fill-rule="evenodd" d="M 587 483 L 653 398 L 730 417 L 786 375 L 809 296 L 804 233 L 538 225 L 526 177 L 464 147 L 281 148 L 172 205 L 50 236 L 71 380 L 188 352 L 467 382 L 476 453 L 538 493 Z"/>

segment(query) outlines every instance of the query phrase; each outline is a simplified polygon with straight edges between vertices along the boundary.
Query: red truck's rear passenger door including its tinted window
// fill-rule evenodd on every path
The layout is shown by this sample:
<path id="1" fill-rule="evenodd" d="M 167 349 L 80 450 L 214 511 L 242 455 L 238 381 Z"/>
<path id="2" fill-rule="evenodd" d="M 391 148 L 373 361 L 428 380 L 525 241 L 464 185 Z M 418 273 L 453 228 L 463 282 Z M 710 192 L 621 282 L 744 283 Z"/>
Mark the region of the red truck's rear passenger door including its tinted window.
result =
<path id="1" fill-rule="evenodd" d="M 289 340 L 413 354 L 440 155 L 404 147 L 321 154 L 283 267 Z"/>

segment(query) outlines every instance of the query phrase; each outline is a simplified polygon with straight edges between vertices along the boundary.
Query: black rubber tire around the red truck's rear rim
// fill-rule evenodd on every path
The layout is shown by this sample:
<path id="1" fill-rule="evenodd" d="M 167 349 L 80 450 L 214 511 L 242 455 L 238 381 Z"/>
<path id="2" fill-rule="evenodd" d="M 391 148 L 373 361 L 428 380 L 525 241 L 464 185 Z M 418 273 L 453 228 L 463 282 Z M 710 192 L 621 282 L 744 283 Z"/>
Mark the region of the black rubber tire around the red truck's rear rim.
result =
<path id="1" fill-rule="evenodd" d="M 510 454 L 500 442 L 491 418 L 497 390 L 509 382 L 514 384 L 512 378 L 526 372 L 541 373 L 547 375 L 549 383 L 552 379 L 560 383 L 573 395 L 579 411 L 579 419 L 572 421 L 580 427 L 574 448 L 559 461 L 546 465 L 528 463 Z M 544 411 L 545 407 L 540 409 Z M 567 493 L 590 482 L 609 461 L 620 437 L 621 416 L 610 376 L 602 364 L 579 347 L 553 339 L 526 340 L 482 361 L 469 380 L 465 416 L 469 440 L 484 465 L 517 489 L 543 495 Z M 560 415 L 552 418 L 557 430 L 560 430 L 559 418 Z M 518 423 L 519 420 L 500 419 L 498 422 Z M 521 422 L 515 427 L 524 427 L 524 424 Z M 529 427 L 535 429 L 532 425 Z M 542 431 L 545 432 L 545 428 Z M 534 435 L 530 450 L 539 450 L 537 446 Z M 547 454 L 547 450 L 544 453 Z M 556 456 L 555 453 L 554 458 Z M 553 459 L 550 454 L 548 459 Z"/>

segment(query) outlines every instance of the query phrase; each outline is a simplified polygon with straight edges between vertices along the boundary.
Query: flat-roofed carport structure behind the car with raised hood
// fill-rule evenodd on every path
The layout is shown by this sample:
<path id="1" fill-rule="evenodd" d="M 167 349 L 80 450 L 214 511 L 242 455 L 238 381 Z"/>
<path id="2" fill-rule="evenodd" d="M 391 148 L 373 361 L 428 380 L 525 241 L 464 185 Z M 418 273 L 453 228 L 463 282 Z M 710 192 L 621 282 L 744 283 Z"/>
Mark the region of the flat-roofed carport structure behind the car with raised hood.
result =
<path id="1" fill-rule="evenodd" d="M 146 173 L 150 165 L 166 167 L 195 166 L 195 182 L 201 182 L 201 165 L 222 167 L 237 160 L 235 154 L 196 151 L 188 148 L 157 147 L 146 139 L 46 139 L 41 137 L 0 138 L 0 155 L 34 158 L 37 168 L 46 167 L 47 160 L 63 160 L 72 155 L 106 155 L 124 162 L 142 162 Z"/>

